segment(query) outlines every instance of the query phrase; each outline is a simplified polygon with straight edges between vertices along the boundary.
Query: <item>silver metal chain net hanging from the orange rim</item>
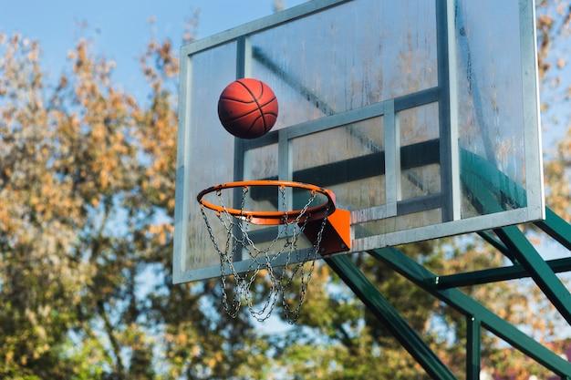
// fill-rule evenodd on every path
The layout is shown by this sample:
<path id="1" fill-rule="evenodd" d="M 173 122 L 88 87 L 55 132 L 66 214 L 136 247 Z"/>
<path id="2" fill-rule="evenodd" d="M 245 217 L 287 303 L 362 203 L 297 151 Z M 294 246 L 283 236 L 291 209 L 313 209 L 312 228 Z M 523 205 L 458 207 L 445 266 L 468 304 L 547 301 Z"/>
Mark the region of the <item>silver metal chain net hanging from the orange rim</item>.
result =
<path id="1" fill-rule="evenodd" d="M 244 203 L 248 191 L 248 187 L 242 188 L 242 199 L 240 200 L 239 208 L 241 213 L 244 211 Z M 281 210 L 286 210 L 285 187 L 279 186 L 278 193 L 278 202 L 282 205 Z M 307 210 L 312 202 L 316 200 L 317 192 L 311 191 L 306 205 L 301 209 L 295 219 L 288 221 L 290 218 L 288 218 L 287 213 L 285 213 L 282 227 L 277 229 L 278 232 L 275 239 L 270 241 L 265 248 L 259 248 L 248 235 L 248 227 L 251 224 L 249 219 L 246 216 L 232 216 L 226 211 L 222 191 L 217 190 L 215 194 L 218 197 L 219 204 L 223 207 L 223 212 L 214 213 L 217 220 L 222 223 L 223 228 L 226 230 L 225 240 L 219 242 L 214 236 L 213 228 L 206 215 L 205 208 L 202 205 L 201 212 L 202 218 L 206 223 L 208 234 L 213 241 L 214 249 L 220 255 L 220 278 L 224 311 L 235 318 L 240 312 L 242 305 L 245 304 L 254 319 L 263 322 L 270 317 L 274 310 L 275 303 L 281 295 L 285 320 L 290 324 L 294 324 L 306 298 L 307 285 L 311 280 L 315 260 L 319 257 L 319 247 L 327 222 L 327 217 L 321 221 L 321 225 L 317 231 L 317 239 L 308 250 L 309 252 L 304 260 L 296 260 L 295 263 L 292 263 L 293 255 L 300 254 L 298 238 L 306 229 L 307 221 L 309 221 L 311 217 Z M 327 207 L 326 215 L 328 211 Z M 234 255 L 236 252 L 239 252 L 239 250 L 245 253 L 244 259 L 251 259 L 248 270 L 243 273 L 239 273 L 234 268 Z M 285 260 L 281 260 L 284 256 Z M 296 259 L 299 259 L 299 256 L 297 256 Z M 276 268 L 277 266 L 280 266 L 280 268 Z M 232 275 L 234 277 L 234 291 L 227 289 L 226 275 Z M 258 275 L 264 277 L 269 283 L 269 292 L 261 305 L 255 304 L 254 300 L 255 289 L 253 286 L 255 286 L 254 282 Z M 298 299 L 297 303 L 293 303 L 295 305 L 291 306 L 286 300 L 286 295 L 294 290 L 293 285 L 296 279 L 299 279 Z"/>

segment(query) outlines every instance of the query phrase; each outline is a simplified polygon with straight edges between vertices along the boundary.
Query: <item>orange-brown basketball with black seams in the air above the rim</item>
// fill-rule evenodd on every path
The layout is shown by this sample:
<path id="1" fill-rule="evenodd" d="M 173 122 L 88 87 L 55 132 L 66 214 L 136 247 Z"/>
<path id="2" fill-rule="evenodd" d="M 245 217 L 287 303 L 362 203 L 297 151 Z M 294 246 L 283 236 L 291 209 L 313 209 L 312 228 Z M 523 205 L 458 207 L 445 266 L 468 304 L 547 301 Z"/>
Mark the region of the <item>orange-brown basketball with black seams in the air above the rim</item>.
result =
<path id="1" fill-rule="evenodd" d="M 264 136 L 275 125 L 277 99 L 272 88 L 254 78 L 242 78 L 223 89 L 218 100 L 223 127 L 240 139 Z"/>

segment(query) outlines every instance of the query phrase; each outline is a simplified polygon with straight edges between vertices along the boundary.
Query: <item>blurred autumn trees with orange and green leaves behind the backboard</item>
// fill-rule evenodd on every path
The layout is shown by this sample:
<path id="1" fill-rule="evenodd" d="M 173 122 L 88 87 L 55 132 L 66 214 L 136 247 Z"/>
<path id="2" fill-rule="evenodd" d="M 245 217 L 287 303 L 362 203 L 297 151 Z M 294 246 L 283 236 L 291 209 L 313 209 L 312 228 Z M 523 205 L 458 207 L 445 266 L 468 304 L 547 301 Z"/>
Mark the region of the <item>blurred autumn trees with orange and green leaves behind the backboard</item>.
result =
<path id="1" fill-rule="evenodd" d="M 548 204 L 569 220 L 571 15 L 563 1 L 537 10 L 543 122 L 547 140 L 556 136 L 546 147 Z M 426 378 L 325 265 L 298 325 L 273 324 L 283 333 L 265 334 L 246 313 L 228 319 L 216 281 L 172 286 L 178 59 L 171 41 L 149 42 L 147 99 L 119 89 L 113 67 L 80 40 L 50 83 L 40 46 L 0 35 L 1 377 Z M 504 263 L 472 239 L 404 250 L 440 273 Z M 356 260 L 462 378 L 463 318 L 378 262 Z M 566 324 L 531 282 L 465 292 L 563 353 Z M 496 375 L 547 375 L 491 336 L 483 347 Z"/>

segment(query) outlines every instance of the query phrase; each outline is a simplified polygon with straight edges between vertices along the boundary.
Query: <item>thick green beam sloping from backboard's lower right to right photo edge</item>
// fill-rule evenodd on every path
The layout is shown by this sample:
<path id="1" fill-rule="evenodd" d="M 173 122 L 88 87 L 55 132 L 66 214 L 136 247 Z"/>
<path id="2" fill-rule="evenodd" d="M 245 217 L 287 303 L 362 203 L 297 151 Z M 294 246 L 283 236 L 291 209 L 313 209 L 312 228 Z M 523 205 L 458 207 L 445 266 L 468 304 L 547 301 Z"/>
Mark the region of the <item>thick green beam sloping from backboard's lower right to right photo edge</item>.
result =
<path id="1" fill-rule="evenodd" d="M 529 272 L 545 296 L 553 303 L 555 308 L 563 315 L 568 324 L 571 324 L 571 293 L 557 278 L 545 260 L 535 251 L 522 231 L 515 226 L 504 227 L 495 231 L 496 235 L 504 241 L 517 261 Z"/>

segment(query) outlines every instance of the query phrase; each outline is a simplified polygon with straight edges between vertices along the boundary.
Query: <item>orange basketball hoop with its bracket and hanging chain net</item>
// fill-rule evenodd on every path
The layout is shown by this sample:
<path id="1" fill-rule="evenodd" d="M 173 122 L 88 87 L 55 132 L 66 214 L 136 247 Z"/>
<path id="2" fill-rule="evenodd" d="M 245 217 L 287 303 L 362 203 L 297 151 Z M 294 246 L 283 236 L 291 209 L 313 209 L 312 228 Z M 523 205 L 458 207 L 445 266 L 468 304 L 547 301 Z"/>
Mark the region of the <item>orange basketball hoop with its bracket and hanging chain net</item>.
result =
<path id="1" fill-rule="evenodd" d="M 257 187 L 275 187 L 278 190 L 277 204 L 281 211 L 244 210 L 246 195 L 251 188 Z M 287 210 L 286 189 L 288 188 L 308 192 L 303 208 Z M 239 202 L 234 200 L 235 204 L 240 204 L 239 208 L 228 207 L 223 200 L 223 190 L 235 189 L 242 190 Z M 215 194 L 218 203 L 205 200 L 207 194 Z M 319 195 L 325 200 L 321 204 L 313 205 Z M 220 256 L 223 308 L 233 318 L 245 303 L 256 320 L 265 321 L 281 294 L 285 319 L 289 323 L 294 323 L 305 299 L 315 259 L 321 255 L 348 251 L 350 248 L 348 211 L 337 209 L 333 191 L 315 185 L 285 180 L 227 182 L 202 190 L 196 200 L 201 205 L 202 217 L 214 249 Z M 215 218 L 222 224 L 225 230 L 224 238 L 215 236 L 207 211 L 213 211 Z M 277 229 L 275 238 L 269 241 L 265 248 L 260 248 L 249 234 L 251 232 L 249 227 L 253 224 L 281 227 Z M 305 250 L 299 247 L 299 237 L 302 233 L 311 242 L 311 247 Z M 327 242 L 323 244 L 324 241 Z M 243 260 L 250 259 L 247 271 L 237 271 L 234 267 L 234 257 L 239 253 L 245 255 Z M 306 268 L 306 262 L 310 262 L 309 268 Z M 278 266 L 283 268 L 276 271 Z M 270 291 L 261 308 L 255 310 L 251 287 L 261 271 L 266 273 Z M 226 275 L 234 276 L 234 294 L 231 303 L 228 302 Z M 296 280 L 300 286 L 299 300 L 296 307 L 292 308 L 285 300 L 285 292 L 291 289 Z"/>

